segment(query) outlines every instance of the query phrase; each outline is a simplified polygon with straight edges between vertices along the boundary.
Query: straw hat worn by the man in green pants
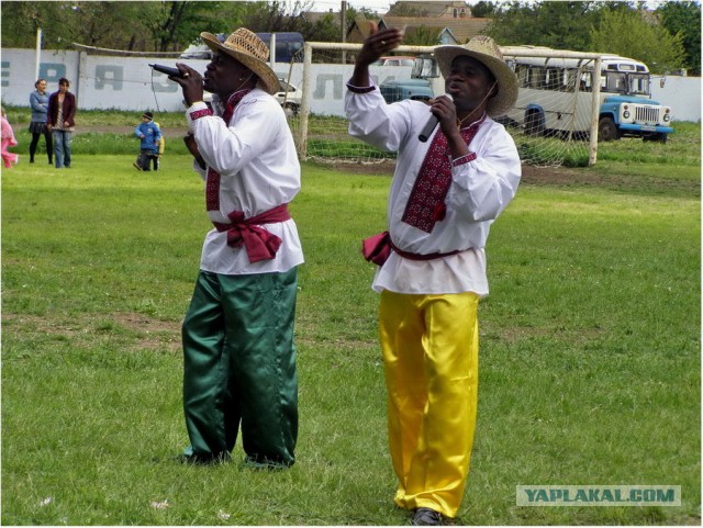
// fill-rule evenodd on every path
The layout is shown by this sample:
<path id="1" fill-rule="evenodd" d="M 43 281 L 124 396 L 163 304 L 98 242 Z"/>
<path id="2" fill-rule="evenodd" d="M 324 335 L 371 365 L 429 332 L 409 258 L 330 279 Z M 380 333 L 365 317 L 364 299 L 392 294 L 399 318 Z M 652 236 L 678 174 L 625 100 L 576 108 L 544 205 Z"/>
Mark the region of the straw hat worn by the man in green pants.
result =
<path id="1" fill-rule="evenodd" d="M 212 33 L 203 32 L 200 37 L 213 52 L 226 53 L 250 69 L 258 78 L 263 88 L 274 94 L 279 91 L 278 76 L 266 63 L 268 60 L 268 47 L 256 34 L 249 30 L 239 27 L 232 33 L 226 41 L 220 40 Z"/>

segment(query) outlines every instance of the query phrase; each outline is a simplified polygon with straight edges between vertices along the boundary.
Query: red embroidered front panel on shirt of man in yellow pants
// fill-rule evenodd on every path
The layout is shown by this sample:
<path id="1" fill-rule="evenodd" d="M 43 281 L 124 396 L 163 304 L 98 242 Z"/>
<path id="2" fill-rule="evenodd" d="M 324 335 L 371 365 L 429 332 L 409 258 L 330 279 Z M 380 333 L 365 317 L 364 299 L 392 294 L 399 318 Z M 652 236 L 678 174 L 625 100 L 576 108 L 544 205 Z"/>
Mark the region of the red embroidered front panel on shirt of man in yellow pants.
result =
<path id="1" fill-rule="evenodd" d="M 484 121 L 486 114 L 468 128 L 460 131 L 467 146 L 471 144 Z M 476 154 L 473 154 L 475 158 Z M 445 199 L 450 186 L 451 155 L 449 154 L 447 136 L 439 130 L 432 139 L 429 149 L 425 155 L 401 220 L 405 224 L 417 227 L 425 233 L 432 233 L 435 224 L 442 222 L 446 216 Z"/>

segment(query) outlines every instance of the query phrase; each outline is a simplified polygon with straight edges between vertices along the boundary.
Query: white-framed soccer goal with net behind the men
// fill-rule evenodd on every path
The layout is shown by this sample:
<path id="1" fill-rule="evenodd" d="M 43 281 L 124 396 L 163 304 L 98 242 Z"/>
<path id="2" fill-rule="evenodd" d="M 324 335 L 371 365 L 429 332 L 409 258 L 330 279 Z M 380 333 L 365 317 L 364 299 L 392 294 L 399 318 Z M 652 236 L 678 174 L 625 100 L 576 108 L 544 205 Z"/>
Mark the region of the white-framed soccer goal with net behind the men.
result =
<path id="1" fill-rule="evenodd" d="M 350 137 L 344 116 L 346 82 L 360 44 L 305 43 L 302 57 L 289 65 L 286 80 L 302 91 L 299 111 L 289 115 L 301 159 L 328 164 L 392 162 L 395 155 Z M 435 94 L 444 79 L 434 46 L 400 46 L 394 55 L 414 56 L 412 66 L 370 68 L 378 86 L 425 79 Z M 518 80 L 515 108 L 496 117 L 515 139 L 523 164 L 594 165 L 598 153 L 601 55 L 520 46 L 501 47 Z"/>

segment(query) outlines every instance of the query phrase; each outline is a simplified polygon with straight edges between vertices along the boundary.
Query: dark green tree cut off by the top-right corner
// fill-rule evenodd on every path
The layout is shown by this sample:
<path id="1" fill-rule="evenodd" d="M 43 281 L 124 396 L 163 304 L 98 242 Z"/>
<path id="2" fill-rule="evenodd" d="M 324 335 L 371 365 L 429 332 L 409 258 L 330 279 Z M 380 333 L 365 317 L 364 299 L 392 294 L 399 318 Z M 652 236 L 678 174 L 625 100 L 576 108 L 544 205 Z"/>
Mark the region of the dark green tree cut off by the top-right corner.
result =
<path id="1" fill-rule="evenodd" d="M 693 76 L 701 75 L 701 4 L 699 2 L 666 2 L 657 9 L 661 24 L 672 35 L 680 34 L 685 49 L 685 67 Z"/>

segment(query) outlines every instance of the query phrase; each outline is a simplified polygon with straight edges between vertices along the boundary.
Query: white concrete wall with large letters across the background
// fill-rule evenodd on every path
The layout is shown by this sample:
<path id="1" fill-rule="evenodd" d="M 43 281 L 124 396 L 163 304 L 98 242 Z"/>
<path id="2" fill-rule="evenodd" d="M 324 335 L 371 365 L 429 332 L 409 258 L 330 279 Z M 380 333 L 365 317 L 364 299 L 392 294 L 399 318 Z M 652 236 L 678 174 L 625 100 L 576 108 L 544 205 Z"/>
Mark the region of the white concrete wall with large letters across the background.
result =
<path id="1" fill-rule="evenodd" d="M 153 72 L 149 63 L 171 65 L 174 59 L 110 57 L 88 55 L 85 52 L 43 50 L 40 77 L 48 81 L 48 91 L 58 89 L 58 79 L 66 77 L 71 91 L 78 98 L 79 109 L 119 109 L 131 111 L 152 110 L 172 112 L 183 109 L 178 85 L 165 75 Z M 194 69 L 203 72 L 207 60 L 188 60 Z M 29 106 L 30 93 L 34 90 L 36 65 L 34 49 L 2 49 L 0 77 L 3 104 Z M 275 64 L 279 77 L 286 79 L 289 65 Z M 313 113 L 344 115 L 345 83 L 352 76 L 352 65 L 313 64 L 310 108 Z M 377 82 L 410 78 L 409 66 L 373 67 L 371 76 Z M 302 65 L 293 65 L 291 81 L 302 80 Z M 701 79 L 699 77 L 660 77 L 652 80 L 652 99 L 672 108 L 674 121 L 701 121 Z M 442 87 L 438 80 L 435 83 Z M 435 90 L 435 93 L 442 92 Z"/>

